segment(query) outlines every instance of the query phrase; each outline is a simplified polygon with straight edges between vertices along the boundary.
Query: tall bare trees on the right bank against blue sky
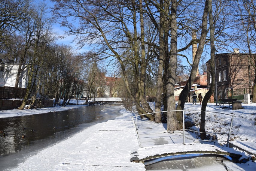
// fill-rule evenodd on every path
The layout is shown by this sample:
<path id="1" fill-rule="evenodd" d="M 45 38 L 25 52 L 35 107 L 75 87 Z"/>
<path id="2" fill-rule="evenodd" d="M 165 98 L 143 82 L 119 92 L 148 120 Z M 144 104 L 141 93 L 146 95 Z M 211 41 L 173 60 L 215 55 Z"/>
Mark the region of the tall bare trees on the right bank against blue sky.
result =
<path id="1" fill-rule="evenodd" d="M 231 44 L 244 47 L 244 52 L 248 52 L 248 58 L 255 66 L 253 0 L 52 1 L 55 4 L 52 12 L 61 25 L 68 28 L 67 35 L 77 35 L 80 46 L 94 47 L 97 59 L 114 59 L 118 64 L 127 92 L 139 114 L 153 112 L 145 101 L 145 87 L 154 80 L 155 111 L 160 111 L 161 102 L 164 110 L 172 111 L 167 112 L 168 131 L 181 128 L 181 115 L 175 112 L 174 99 L 179 59 L 190 61 L 187 65 L 191 70 L 177 110 L 184 108 L 201 56 L 209 52 L 207 49 L 210 49 L 211 66 L 215 46 L 220 51 L 221 48 L 228 49 Z M 241 34 L 241 27 L 247 35 Z M 192 33 L 196 33 L 196 39 L 192 40 Z M 187 55 L 192 44 L 198 44 L 193 64 Z M 215 73 L 211 74 L 215 78 Z M 213 87 L 209 94 L 212 94 Z M 207 98 L 204 102 L 208 101 Z M 205 107 L 206 103 L 203 103 L 202 109 Z M 147 114 L 146 117 L 161 122 L 160 113 Z"/>

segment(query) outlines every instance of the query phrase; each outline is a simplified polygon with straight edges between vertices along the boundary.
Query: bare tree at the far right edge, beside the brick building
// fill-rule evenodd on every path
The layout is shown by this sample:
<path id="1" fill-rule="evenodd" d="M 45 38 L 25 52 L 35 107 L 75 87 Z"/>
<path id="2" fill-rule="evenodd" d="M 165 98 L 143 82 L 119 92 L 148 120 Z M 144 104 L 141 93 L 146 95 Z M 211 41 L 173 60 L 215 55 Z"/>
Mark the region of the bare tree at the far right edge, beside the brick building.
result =
<path id="1" fill-rule="evenodd" d="M 240 48 L 245 58 L 248 58 L 248 73 L 249 73 L 249 86 L 252 85 L 252 102 L 256 103 L 256 8 L 255 1 L 253 0 L 236 0 L 236 5 L 233 13 L 232 21 L 234 22 L 235 34 L 237 39 L 232 39 L 232 42 Z M 251 73 L 251 68 L 254 69 L 254 74 Z M 252 78 L 252 79 L 251 79 Z"/>

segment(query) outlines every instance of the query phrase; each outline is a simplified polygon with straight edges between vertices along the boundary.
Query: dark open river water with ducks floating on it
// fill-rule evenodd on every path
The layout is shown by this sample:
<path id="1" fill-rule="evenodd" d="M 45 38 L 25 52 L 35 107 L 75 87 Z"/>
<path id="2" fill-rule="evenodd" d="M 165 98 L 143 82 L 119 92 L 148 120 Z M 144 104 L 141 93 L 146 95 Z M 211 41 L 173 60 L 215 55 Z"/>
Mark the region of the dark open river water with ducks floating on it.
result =
<path id="1" fill-rule="evenodd" d="M 19 158 L 35 154 L 85 128 L 120 115 L 116 104 L 81 106 L 60 112 L 1 118 L 0 170 L 22 162 Z M 23 137 L 24 136 L 24 137 Z"/>

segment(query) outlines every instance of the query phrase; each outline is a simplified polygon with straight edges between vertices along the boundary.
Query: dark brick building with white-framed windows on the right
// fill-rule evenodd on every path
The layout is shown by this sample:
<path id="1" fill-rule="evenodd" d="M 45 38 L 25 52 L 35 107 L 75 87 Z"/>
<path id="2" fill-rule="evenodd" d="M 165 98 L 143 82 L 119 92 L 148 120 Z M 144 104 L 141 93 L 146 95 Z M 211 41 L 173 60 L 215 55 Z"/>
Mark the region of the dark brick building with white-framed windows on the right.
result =
<path id="1" fill-rule="evenodd" d="M 233 97 L 233 91 L 236 95 L 249 93 L 255 73 L 247 56 L 242 53 L 221 53 L 216 54 L 215 61 L 219 100 Z M 207 85 L 210 87 L 212 83 L 210 60 L 206 62 L 206 67 Z"/>

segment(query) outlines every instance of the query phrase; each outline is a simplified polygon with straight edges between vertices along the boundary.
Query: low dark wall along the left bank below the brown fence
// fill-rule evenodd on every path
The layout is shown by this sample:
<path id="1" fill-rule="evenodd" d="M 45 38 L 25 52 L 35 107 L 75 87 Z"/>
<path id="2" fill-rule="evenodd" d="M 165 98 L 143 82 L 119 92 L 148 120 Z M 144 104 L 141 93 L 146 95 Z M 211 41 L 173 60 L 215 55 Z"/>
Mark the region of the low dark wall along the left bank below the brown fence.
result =
<path id="1" fill-rule="evenodd" d="M 20 99 L 0 99 L 0 110 L 10 110 L 20 107 L 23 100 Z M 28 101 L 29 104 L 30 100 Z M 41 99 L 41 101 L 35 103 L 38 107 L 53 107 L 53 99 Z"/>

